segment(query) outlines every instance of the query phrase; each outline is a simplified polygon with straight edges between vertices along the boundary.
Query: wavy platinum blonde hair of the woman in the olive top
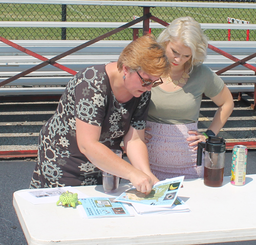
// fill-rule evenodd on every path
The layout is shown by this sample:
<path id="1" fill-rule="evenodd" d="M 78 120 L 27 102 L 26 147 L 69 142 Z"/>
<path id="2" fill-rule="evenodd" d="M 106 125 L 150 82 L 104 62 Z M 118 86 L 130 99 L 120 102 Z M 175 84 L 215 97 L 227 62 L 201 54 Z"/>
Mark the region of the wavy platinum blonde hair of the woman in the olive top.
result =
<path id="1" fill-rule="evenodd" d="M 189 66 L 204 62 L 208 48 L 208 38 L 203 33 L 201 25 L 192 17 L 180 17 L 172 21 L 162 31 L 157 41 L 166 47 L 166 42 L 180 41 L 184 46 L 191 49 L 192 57 L 187 61 Z"/>

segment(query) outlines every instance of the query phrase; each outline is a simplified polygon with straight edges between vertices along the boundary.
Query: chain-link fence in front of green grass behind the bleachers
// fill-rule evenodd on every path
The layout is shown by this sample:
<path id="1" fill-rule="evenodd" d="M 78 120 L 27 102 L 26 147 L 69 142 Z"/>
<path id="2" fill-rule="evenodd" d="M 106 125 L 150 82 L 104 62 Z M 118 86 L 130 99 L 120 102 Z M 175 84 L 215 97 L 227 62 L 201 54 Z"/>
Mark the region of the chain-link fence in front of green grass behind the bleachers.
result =
<path id="1" fill-rule="evenodd" d="M 179 1 L 180 2 L 180 1 Z M 186 1 L 187 2 L 187 1 Z M 200 1 L 215 2 L 215 1 Z M 219 1 L 216 1 L 219 2 Z M 225 2 L 225 1 L 223 1 Z M 230 3 L 251 3 L 254 1 L 229 1 Z M 155 7 L 152 15 L 170 22 L 181 16 L 194 17 L 199 23 L 227 24 L 227 17 L 250 21 L 256 24 L 255 9 L 231 8 L 189 8 L 189 7 Z M 1 21 L 93 21 L 93 22 L 129 22 L 133 16 L 142 16 L 143 8 L 138 6 L 104 6 L 104 5 L 58 5 L 58 4 L 0 4 Z M 232 24 L 230 24 L 232 25 Z M 90 40 L 113 29 L 110 28 L 0 28 L 0 35 L 12 40 Z M 162 29 L 152 29 L 157 36 Z M 227 30 L 205 30 L 210 40 L 227 40 Z M 140 30 L 139 35 L 142 35 Z M 231 30 L 231 40 L 246 40 L 246 30 Z M 108 39 L 132 40 L 132 29 L 114 34 Z M 255 30 L 250 30 L 249 40 L 256 40 Z"/>

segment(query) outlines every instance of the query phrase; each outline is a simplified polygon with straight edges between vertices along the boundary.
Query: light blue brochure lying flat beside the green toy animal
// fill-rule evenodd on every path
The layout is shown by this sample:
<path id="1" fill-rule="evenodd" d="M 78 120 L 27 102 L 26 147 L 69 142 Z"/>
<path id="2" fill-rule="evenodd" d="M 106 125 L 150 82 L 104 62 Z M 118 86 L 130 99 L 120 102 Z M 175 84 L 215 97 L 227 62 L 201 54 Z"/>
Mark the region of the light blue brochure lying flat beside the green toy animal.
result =
<path id="1" fill-rule="evenodd" d="M 132 206 L 114 201 L 115 197 L 81 198 L 77 206 L 83 218 L 134 216 Z"/>

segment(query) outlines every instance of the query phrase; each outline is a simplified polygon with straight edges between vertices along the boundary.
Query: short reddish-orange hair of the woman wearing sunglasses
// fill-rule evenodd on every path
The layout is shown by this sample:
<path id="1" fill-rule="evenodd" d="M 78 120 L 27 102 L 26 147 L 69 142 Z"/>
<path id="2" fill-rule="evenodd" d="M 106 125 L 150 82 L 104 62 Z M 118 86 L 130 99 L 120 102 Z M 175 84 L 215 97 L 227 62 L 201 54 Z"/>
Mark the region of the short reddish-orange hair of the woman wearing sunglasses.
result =
<path id="1" fill-rule="evenodd" d="M 119 71 L 123 65 L 128 66 L 131 72 L 142 70 L 156 77 L 167 76 L 170 71 L 164 47 L 151 34 L 139 37 L 123 49 L 117 61 Z"/>

